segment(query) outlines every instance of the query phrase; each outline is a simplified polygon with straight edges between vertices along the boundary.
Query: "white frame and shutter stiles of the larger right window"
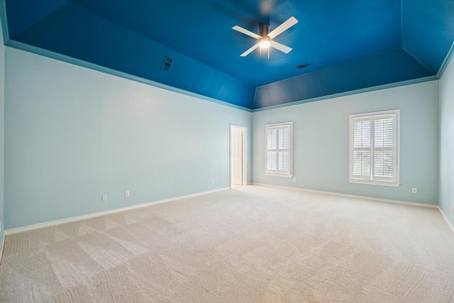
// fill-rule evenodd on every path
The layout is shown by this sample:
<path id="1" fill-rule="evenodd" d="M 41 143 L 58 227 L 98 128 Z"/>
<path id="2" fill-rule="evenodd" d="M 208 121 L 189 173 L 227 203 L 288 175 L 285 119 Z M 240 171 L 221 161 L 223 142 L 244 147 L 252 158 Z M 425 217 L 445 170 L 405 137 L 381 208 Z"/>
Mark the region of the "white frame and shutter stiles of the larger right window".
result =
<path id="1" fill-rule="evenodd" d="M 379 148 L 375 148 L 375 120 L 378 119 L 387 119 L 392 117 L 393 119 L 393 175 L 389 177 L 380 177 L 374 176 L 375 172 L 375 151 Z M 370 121 L 371 130 L 370 130 L 370 176 L 358 176 L 353 175 L 354 170 L 354 150 L 353 147 L 353 125 L 355 121 Z M 348 156 L 349 156 L 349 174 L 348 180 L 350 183 L 359 183 L 359 184 L 373 184 L 381 186 L 391 186 L 398 187 L 400 185 L 399 179 L 399 166 L 400 166 L 400 109 L 393 109 L 389 111 L 375 111 L 371 113 L 364 114 L 351 114 L 349 115 L 349 129 L 348 129 Z M 357 148 L 360 150 L 360 148 Z"/>

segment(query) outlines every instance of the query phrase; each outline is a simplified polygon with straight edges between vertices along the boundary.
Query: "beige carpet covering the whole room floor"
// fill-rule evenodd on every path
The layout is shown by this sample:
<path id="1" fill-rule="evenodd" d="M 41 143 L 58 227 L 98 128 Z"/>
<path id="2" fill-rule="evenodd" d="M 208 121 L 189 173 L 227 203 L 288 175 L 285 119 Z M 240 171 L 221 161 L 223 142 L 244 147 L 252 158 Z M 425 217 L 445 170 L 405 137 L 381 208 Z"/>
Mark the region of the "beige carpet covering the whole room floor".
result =
<path id="1" fill-rule="evenodd" d="M 454 302 L 437 209 L 248 186 L 6 237 L 1 302 Z"/>

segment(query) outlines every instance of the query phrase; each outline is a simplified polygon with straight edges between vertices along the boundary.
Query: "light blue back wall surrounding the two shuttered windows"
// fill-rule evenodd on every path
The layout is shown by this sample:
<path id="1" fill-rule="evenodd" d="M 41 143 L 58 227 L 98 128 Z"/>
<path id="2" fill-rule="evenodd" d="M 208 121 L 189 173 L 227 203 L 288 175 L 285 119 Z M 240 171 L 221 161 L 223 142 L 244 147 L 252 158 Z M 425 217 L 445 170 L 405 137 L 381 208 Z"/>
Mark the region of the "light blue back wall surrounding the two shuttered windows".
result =
<path id="1" fill-rule="evenodd" d="M 348 181 L 348 115 L 401 110 L 399 187 Z M 294 122 L 294 177 L 265 176 L 265 124 Z M 438 204 L 438 81 L 253 113 L 253 182 Z M 418 189 L 417 194 L 411 188 Z"/>

